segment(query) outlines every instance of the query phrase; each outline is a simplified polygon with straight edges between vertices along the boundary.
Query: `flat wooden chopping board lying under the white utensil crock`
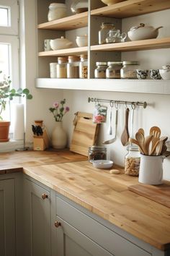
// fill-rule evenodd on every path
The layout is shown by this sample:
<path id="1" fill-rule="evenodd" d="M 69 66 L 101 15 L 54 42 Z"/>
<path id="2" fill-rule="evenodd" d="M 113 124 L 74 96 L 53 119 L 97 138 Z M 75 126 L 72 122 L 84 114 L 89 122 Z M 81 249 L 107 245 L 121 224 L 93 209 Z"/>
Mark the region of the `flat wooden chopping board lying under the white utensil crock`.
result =
<path id="1" fill-rule="evenodd" d="M 170 208 L 170 182 L 154 186 L 137 184 L 129 186 L 128 189 Z"/>

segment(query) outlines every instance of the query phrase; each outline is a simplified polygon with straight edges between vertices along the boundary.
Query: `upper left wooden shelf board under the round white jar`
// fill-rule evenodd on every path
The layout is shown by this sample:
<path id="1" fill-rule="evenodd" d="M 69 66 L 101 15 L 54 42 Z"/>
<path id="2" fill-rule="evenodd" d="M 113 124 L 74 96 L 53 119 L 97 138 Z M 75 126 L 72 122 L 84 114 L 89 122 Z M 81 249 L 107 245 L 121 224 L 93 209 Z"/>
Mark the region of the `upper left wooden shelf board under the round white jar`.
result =
<path id="1" fill-rule="evenodd" d="M 86 27 L 87 21 L 88 12 L 82 12 L 59 20 L 41 23 L 37 28 L 43 30 L 73 30 L 79 27 Z"/>

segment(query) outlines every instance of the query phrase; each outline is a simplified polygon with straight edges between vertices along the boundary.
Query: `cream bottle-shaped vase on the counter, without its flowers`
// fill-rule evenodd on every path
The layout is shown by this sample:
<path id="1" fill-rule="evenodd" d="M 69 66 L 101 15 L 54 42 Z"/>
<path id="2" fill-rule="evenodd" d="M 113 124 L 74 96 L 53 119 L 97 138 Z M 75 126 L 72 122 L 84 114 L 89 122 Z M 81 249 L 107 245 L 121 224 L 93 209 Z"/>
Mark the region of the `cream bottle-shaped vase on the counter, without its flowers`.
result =
<path id="1" fill-rule="evenodd" d="M 55 128 L 53 129 L 51 135 L 51 142 L 53 148 L 62 149 L 66 148 L 67 145 L 67 134 L 63 129 L 63 125 L 61 121 L 56 121 Z"/>

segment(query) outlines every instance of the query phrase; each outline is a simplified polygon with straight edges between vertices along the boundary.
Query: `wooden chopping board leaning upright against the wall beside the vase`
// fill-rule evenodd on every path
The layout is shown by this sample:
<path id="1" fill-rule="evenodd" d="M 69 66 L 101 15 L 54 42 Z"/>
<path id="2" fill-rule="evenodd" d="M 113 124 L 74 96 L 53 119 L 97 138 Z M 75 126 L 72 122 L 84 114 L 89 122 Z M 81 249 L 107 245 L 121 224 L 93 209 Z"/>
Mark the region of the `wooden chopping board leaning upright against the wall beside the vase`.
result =
<path id="1" fill-rule="evenodd" d="M 76 112 L 73 120 L 74 130 L 70 150 L 81 155 L 88 155 L 89 147 L 97 144 L 99 124 L 92 121 L 93 115 Z"/>

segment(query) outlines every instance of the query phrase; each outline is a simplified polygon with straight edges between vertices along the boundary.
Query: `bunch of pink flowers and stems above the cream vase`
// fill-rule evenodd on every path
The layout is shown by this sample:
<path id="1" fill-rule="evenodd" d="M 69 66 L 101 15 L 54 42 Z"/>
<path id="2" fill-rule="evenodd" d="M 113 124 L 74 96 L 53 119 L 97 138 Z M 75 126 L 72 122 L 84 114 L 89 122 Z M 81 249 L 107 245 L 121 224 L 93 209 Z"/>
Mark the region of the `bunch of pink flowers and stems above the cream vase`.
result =
<path id="1" fill-rule="evenodd" d="M 49 108 L 50 112 L 53 114 L 55 121 L 62 121 L 63 116 L 70 110 L 68 106 L 64 107 L 66 103 L 66 99 L 64 98 L 63 101 L 58 103 L 55 101 L 53 103 L 53 107 Z"/>

